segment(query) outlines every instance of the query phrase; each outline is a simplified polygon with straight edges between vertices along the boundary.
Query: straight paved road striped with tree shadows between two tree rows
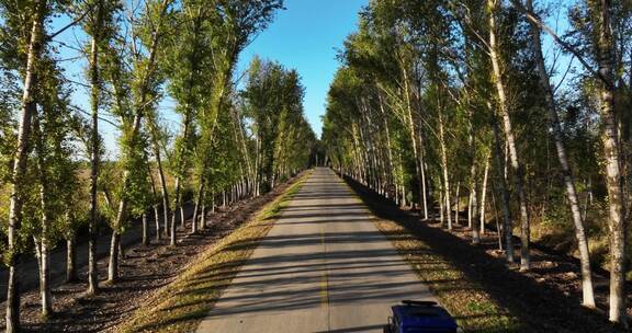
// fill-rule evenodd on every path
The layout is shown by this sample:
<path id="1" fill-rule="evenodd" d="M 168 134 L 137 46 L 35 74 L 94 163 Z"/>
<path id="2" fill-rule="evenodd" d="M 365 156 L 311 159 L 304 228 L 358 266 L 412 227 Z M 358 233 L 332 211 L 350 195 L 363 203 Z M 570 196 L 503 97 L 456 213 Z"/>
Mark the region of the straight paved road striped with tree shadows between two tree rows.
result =
<path id="1" fill-rule="evenodd" d="M 360 199 L 319 168 L 198 332 L 382 332 L 402 299 L 433 298 Z"/>

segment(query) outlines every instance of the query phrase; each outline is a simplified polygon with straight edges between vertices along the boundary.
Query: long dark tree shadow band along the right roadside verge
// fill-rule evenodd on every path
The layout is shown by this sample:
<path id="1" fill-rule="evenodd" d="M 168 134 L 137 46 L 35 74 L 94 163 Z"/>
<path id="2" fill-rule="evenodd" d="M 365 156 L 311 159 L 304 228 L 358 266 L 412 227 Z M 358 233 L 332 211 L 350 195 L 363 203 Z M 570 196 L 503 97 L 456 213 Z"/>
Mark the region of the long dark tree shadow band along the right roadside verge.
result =
<path id="1" fill-rule="evenodd" d="M 582 307 L 576 298 L 539 284 L 533 278 L 508 267 L 504 259 L 492 256 L 484 249 L 472 245 L 462 238 L 428 226 L 420 221 L 419 217 L 400 210 L 392 202 L 360 183 L 349 179 L 346 181 L 370 206 L 373 214 L 395 222 L 400 230 L 422 243 L 425 248 L 419 248 L 420 251 L 431 250 L 456 267 L 466 284 L 473 288 L 472 292 L 483 291 L 488 295 L 503 311 L 506 311 L 506 315 L 517 320 L 518 326 L 515 329 L 517 332 L 618 332 L 618 329 L 606 320 L 603 313 Z M 440 298 L 442 294 L 449 297 L 451 292 L 447 291 L 453 288 L 450 284 L 442 283 L 430 283 L 430 286 Z M 453 314 L 465 321 L 477 317 L 496 315 L 485 314 L 485 309 L 479 309 L 477 312 L 481 314 Z M 500 332 L 494 326 L 482 331 Z"/>

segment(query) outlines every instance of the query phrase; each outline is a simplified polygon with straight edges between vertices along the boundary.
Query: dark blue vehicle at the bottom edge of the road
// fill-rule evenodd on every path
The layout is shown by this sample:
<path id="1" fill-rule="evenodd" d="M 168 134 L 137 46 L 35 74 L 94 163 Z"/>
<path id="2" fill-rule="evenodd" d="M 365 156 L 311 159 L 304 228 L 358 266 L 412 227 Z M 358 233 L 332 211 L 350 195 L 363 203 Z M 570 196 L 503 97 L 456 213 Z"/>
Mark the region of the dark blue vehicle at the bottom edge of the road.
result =
<path id="1" fill-rule="evenodd" d="M 404 300 L 393 306 L 384 333 L 456 333 L 454 319 L 435 301 Z"/>

